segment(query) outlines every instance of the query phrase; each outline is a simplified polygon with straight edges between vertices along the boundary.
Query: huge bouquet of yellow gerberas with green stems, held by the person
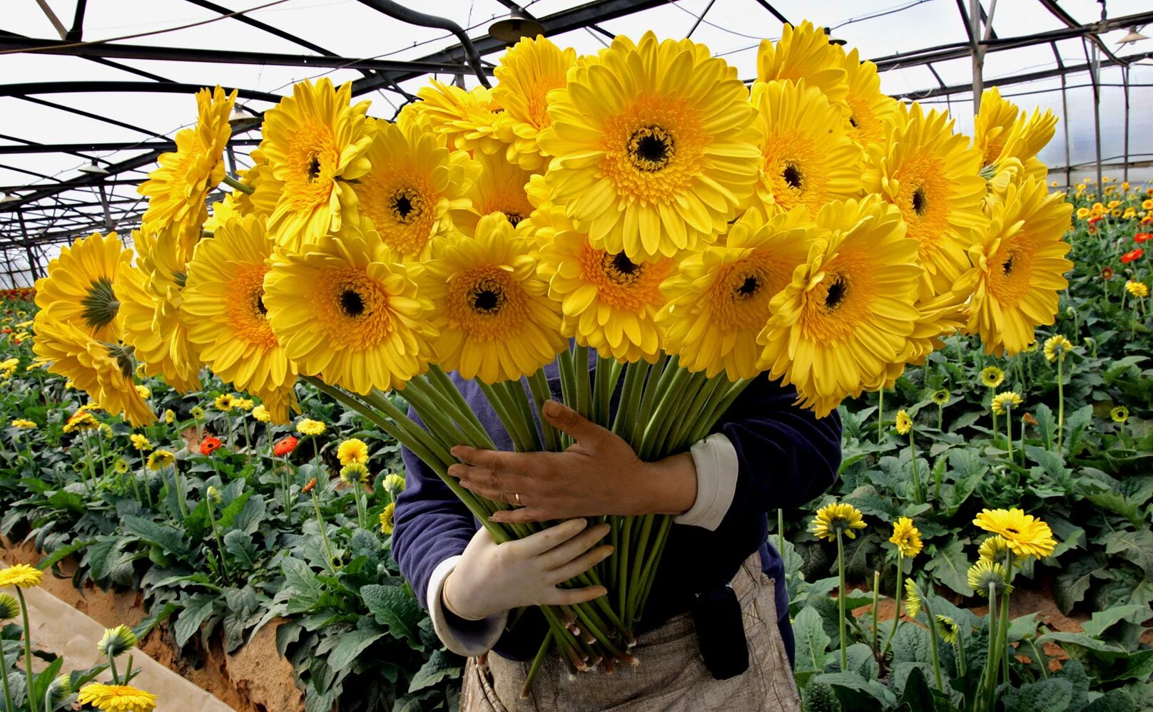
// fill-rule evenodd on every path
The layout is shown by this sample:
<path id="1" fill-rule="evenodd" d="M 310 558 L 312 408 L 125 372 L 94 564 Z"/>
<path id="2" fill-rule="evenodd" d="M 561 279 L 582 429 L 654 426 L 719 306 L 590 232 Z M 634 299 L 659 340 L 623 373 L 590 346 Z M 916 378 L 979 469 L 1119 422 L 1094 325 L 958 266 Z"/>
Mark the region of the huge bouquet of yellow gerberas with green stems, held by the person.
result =
<path id="1" fill-rule="evenodd" d="M 133 358 L 178 387 L 209 366 L 279 421 L 303 377 L 505 541 L 538 525 L 492 522 L 510 505 L 447 475 L 453 446 L 493 446 L 447 372 L 480 384 L 517 449 L 557 450 L 567 437 L 534 417 L 555 362 L 567 404 L 655 460 L 755 378 L 823 416 L 943 335 L 1013 354 L 1053 323 L 1071 265 L 1070 209 L 1037 159 L 1052 114 L 989 90 L 971 141 L 807 22 L 761 44 L 751 88 L 651 33 L 585 56 L 523 39 L 495 74 L 431 82 L 395 122 L 349 85 L 301 82 L 241 176 L 221 164 L 235 94 L 203 90 L 141 187 L 136 264 L 114 236 L 66 249 L 37 285 L 37 353 L 133 422 L 151 417 Z M 671 518 L 609 520 L 613 555 L 575 583 L 610 594 L 545 608 L 538 660 L 631 659 Z"/>

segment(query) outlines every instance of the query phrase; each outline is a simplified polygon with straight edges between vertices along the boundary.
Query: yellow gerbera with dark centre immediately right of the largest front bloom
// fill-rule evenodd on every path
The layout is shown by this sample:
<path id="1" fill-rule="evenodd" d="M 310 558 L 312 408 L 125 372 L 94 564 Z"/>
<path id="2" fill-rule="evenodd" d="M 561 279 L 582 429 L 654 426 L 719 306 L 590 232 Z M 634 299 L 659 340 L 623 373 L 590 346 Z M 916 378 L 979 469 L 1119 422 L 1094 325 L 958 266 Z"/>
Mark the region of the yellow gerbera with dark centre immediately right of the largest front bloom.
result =
<path id="1" fill-rule="evenodd" d="M 756 82 L 752 101 L 763 160 L 749 206 L 771 214 L 805 205 L 815 213 L 860 194 L 860 146 L 819 89 Z"/>

